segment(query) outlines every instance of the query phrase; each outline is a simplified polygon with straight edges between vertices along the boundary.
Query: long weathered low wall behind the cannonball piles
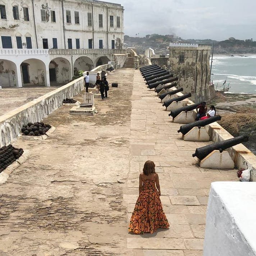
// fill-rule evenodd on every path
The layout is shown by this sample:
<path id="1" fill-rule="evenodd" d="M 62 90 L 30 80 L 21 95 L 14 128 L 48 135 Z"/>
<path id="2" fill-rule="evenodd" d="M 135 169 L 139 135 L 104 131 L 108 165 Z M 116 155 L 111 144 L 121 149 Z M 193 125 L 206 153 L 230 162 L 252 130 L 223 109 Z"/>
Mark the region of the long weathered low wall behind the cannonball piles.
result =
<path id="1" fill-rule="evenodd" d="M 84 81 L 80 77 L 60 88 L 51 91 L 31 102 L 0 116 L 0 147 L 18 138 L 22 125 L 38 122 L 58 109 L 65 98 L 72 98 L 83 90 Z"/>

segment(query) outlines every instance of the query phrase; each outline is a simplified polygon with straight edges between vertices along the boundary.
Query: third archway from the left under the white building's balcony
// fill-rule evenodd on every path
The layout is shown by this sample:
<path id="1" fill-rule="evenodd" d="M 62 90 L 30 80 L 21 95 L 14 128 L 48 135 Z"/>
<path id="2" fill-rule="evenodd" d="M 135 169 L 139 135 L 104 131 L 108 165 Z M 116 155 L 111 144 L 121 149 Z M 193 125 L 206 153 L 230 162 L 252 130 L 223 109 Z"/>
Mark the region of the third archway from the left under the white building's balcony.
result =
<path id="1" fill-rule="evenodd" d="M 71 80 L 70 62 L 65 58 L 55 58 L 49 63 L 50 84 L 65 84 Z"/>

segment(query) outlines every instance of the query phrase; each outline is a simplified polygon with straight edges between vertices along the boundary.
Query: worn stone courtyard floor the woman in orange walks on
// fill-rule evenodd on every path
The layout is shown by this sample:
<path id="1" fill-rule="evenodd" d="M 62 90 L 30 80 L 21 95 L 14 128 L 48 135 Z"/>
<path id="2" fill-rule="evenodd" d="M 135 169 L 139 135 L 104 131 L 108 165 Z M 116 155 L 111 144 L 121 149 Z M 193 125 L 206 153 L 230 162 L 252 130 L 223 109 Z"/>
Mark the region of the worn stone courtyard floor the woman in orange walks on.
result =
<path id="1" fill-rule="evenodd" d="M 29 159 L 0 184 L 0 255 L 201 256 L 210 183 L 237 180 L 235 170 L 202 169 L 138 70 L 108 76 L 109 99 L 95 116 L 62 106 L 44 122 L 45 141 L 17 140 Z M 74 97 L 82 101 L 82 97 Z M 128 234 L 146 160 L 156 164 L 170 228 Z"/>

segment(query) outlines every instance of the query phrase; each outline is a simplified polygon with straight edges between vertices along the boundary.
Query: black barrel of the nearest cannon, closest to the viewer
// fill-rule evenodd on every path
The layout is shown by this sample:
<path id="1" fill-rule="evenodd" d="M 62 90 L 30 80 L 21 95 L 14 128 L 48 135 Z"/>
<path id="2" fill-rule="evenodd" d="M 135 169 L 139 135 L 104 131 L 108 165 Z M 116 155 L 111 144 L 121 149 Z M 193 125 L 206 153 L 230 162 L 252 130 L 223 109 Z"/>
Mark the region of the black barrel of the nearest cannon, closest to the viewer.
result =
<path id="1" fill-rule="evenodd" d="M 222 152 L 223 150 L 225 150 L 229 147 L 236 146 L 237 144 L 240 144 L 242 142 L 246 142 L 248 140 L 249 140 L 249 137 L 244 134 L 244 135 L 237 136 L 237 137 L 234 137 L 234 138 L 229 139 L 229 140 L 216 142 L 216 143 L 204 146 L 204 147 L 196 148 L 196 152 L 192 156 L 193 157 L 196 156 L 197 158 L 202 160 L 214 150 L 219 150 L 220 152 Z"/>

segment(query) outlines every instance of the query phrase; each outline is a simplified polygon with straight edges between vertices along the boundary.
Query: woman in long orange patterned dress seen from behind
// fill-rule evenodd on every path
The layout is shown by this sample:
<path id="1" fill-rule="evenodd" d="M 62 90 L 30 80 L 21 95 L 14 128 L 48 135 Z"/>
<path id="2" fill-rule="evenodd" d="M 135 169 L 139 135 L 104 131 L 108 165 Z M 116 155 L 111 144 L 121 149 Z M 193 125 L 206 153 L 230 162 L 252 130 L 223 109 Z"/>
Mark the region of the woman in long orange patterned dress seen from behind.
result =
<path id="1" fill-rule="evenodd" d="M 157 189 L 156 189 L 157 188 Z M 139 197 L 134 207 L 129 232 L 154 233 L 158 228 L 169 228 L 160 200 L 161 192 L 155 164 L 146 161 L 140 174 Z"/>

